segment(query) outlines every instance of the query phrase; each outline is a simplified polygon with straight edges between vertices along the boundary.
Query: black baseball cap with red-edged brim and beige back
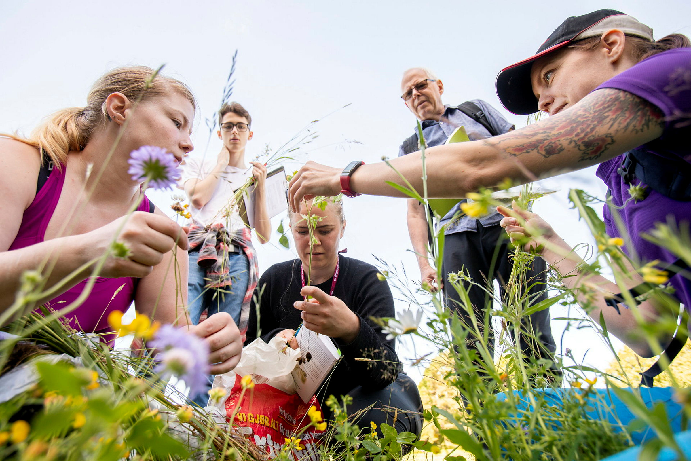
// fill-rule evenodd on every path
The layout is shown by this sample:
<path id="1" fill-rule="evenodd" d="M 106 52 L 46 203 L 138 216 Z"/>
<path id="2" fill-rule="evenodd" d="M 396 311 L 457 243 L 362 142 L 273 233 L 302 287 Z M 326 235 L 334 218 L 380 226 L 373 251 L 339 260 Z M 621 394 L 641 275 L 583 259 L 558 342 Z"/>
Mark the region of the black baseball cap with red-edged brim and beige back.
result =
<path id="1" fill-rule="evenodd" d="M 633 35 L 652 41 L 652 29 L 636 18 L 617 10 L 598 10 L 583 16 L 571 16 L 551 33 L 538 51 L 527 59 L 513 64 L 497 75 L 497 95 L 509 111 L 527 115 L 538 111 L 538 101 L 533 94 L 530 70 L 533 62 L 567 46 L 574 41 L 598 37 L 607 30 L 618 29 L 625 35 Z"/>

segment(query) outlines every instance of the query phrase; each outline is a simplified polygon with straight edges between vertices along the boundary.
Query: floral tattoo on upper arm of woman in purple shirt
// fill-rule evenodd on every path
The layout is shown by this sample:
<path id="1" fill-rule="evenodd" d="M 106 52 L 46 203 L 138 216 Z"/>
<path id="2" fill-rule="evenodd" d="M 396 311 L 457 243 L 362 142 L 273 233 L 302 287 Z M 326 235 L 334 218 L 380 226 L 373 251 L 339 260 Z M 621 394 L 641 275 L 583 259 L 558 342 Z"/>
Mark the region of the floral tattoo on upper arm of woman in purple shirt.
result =
<path id="1" fill-rule="evenodd" d="M 486 142 L 512 157 L 562 154 L 567 157 L 562 161 L 571 164 L 593 164 L 659 138 L 663 127 L 663 114 L 654 104 L 626 91 L 603 88 L 563 113 Z"/>

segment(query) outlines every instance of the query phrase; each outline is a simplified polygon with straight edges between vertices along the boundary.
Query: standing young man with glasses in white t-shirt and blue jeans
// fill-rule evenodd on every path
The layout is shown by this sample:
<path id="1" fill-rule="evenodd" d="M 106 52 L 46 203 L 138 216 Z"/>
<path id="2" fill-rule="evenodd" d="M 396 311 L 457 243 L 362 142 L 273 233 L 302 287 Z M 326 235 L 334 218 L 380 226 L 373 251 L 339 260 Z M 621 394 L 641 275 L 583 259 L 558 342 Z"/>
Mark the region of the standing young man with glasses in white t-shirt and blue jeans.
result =
<path id="1" fill-rule="evenodd" d="M 189 317 L 197 324 L 205 310 L 209 316 L 228 312 L 244 336 L 258 267 L 251 229 L 238 211 L 236 190 L 254 176 L 254 229 L 258 240 L 267 243 L 271 235 L 265 199 L 267 171 L 260 162 L 250 162 L 250 167 L 245 164 L 245 147 L 253 135 L 247 110 L 237 102 L 223 104 L 218 122 L 218 138 L 223 141 L 218 156 L 189 160 L 180 178 L 192 216 L 188 234 Z M 204 392 L 190 396 L 200 406 L 205 406 L 208 397 Z"/>

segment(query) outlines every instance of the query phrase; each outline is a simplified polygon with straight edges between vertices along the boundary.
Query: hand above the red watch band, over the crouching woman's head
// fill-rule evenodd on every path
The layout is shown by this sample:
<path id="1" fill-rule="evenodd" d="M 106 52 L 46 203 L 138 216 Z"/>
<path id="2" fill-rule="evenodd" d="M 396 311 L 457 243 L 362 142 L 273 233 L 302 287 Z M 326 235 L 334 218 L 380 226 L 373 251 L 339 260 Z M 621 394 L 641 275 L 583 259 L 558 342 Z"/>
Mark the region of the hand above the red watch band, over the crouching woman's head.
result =
<path id="1" fill-rule="evenodd" d="M 341 171 L 316 162 L 307 162 L 293 176 L 288 186 L 288 205 L 297 213 L 300 202 L 314 196 L 337 196 L 341 193 Z"/>

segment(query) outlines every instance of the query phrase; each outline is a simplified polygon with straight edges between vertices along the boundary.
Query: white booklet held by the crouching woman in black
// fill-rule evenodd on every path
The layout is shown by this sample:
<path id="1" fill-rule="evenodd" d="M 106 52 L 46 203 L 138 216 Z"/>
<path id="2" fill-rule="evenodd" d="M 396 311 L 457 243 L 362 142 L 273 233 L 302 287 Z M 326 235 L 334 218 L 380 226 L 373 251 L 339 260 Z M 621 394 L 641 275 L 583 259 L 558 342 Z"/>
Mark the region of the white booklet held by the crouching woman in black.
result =
<path id="1" fill-rule="evenodd" d="M 341 350 L 336 348 L 330 337 L 307 330 L 304 326 L 298 329 L 295 339 L 302 357 L 292 375 L 298 394 L 307 403 L 341 359 Z"/>

